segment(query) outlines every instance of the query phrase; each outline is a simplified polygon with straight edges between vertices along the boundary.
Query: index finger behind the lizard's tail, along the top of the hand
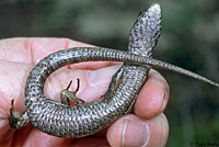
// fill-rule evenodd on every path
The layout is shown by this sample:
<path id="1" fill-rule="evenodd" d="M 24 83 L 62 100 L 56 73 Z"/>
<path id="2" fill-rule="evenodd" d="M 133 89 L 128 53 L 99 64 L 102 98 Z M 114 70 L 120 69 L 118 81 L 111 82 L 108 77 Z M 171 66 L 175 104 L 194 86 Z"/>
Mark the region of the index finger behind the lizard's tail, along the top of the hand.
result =
<path id="1" fill-rule="evenodd" d="M 92 47 L 84 43 L 71 41 L 69 38 L 8 38 L 0 41 L 0 59 L 35 65 L 47 55 L 71 47 Z M 71 66 L 80 69 L 97 69 L 114 65 L 113 61 L 84 63 Z"/>

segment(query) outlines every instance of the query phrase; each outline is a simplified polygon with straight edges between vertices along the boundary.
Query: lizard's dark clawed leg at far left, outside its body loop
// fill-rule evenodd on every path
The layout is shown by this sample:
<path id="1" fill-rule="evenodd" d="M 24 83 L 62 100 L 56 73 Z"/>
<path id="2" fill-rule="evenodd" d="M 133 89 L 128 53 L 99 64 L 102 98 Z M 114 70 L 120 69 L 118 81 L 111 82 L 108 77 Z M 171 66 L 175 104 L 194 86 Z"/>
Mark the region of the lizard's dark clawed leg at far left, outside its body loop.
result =
<path id="1" fill-rule="evenodd" d="M 10 116 L 9 116 L 9 125 L 11 129 L 19 129 L 20 127 L 26 125 L 30 120 L 27 112 L 24 112 L 22 115 L 19 112 L 14 111 L 14 100 L 11 100 L 11 108 L 10 108 Z"/>

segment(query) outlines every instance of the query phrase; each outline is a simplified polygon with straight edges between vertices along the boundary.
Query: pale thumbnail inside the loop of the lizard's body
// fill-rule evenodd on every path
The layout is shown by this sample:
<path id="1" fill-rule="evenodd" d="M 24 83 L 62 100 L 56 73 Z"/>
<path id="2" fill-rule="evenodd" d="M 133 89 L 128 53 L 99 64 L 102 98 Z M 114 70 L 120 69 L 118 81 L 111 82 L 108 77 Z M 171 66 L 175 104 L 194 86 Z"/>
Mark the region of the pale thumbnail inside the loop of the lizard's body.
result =
<path id="1" fill-rule="evenodd" d="M 101 68 L 97 70 L 89 71 L 89 84 L 91 87 L 107 87 L 113 75 L 118 70 L 120 66 L 111 66 Z"/>

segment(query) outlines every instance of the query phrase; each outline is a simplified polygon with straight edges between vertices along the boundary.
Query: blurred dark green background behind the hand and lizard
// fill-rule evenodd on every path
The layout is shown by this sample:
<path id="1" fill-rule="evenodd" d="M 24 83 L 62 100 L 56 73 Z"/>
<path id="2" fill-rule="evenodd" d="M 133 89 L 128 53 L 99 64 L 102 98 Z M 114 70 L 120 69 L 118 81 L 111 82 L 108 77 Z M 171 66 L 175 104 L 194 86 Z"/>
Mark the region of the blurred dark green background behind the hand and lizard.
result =
<path id="1" fill-rule="evenodd" d="M 163 11 L 161 38 L 153 57 L 219 81 L 218 0 L 1 0 L 0 38 L 69 37 L 127 49 L 128 34 L 140 10 L 158 2 Z M 165 114 L 168 147 L 219 144 L 219 89 L 159 70 L 171 88 Z"/>

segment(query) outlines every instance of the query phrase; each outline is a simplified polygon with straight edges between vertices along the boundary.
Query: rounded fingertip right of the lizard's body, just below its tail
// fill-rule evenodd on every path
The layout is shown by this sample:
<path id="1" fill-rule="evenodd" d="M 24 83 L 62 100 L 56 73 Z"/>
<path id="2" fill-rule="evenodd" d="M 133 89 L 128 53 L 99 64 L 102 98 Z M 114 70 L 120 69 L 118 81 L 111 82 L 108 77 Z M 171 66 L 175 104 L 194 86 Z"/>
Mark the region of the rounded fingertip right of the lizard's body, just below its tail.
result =
<path id="1" fill-rule="evenodd" d="M 135 114 L 150 118 L 164 111 L 170 95 L 165 79 L 155 70 L 150 70 L 148 79 L 142 87 L 136 104 Z"/>

